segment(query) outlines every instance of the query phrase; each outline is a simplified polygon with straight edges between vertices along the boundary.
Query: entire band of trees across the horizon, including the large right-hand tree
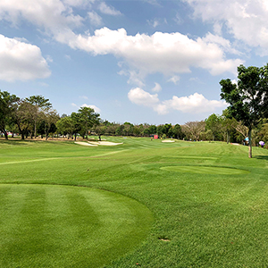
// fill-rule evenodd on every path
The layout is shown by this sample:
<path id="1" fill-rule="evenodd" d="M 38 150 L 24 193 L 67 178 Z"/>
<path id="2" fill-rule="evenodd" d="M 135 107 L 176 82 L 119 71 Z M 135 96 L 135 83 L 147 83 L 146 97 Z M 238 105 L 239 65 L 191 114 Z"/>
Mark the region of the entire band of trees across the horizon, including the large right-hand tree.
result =
<path id="1" fill-rule="evenodd" d="M 221 80 L 221 97 L 229 107 L 222 115 L 211 114 L 204 121 L 188 121 L 184 125 L 165 123 L 160 125 L 115 123 L 104 121 L 99 113 L 89 107 L 81 107 L 77 113 L 61 117 L 44 96 L 21 99 L 0 90 L 0 132 L 8 138 L 7 130 L 19 132 L 21 139 L 37 135 L 63 135 L 68 138 L 88 138 L 95 133 L 117 136 L 152 136 L 186 140 L 222 140 L 245 143 L 248 138 L 248 156 L 252 157 L 252 145 L 256 140 L 268 142 L 268 64 L 264 67 L 243 65 L 238 67 L 238 81 Z"/>

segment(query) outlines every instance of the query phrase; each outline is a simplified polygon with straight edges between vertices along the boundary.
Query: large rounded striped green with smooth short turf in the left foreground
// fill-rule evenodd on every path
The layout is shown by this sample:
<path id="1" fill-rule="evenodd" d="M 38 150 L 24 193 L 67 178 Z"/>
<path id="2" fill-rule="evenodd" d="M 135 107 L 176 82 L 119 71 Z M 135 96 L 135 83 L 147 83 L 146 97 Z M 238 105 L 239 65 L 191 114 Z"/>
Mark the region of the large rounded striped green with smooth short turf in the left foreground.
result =
<path id="1" fill-rule="evenodd" d="M 145 205 L 95 188 L 0 184 L 1 267 L 99 267 L 147 237 Z"/>

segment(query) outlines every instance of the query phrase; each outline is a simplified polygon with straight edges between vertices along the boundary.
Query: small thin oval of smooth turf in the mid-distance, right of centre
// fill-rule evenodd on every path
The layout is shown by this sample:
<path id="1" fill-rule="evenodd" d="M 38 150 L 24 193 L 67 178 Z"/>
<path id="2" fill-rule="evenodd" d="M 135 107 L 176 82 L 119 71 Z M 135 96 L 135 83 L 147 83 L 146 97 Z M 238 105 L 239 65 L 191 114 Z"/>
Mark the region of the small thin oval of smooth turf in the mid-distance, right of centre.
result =
<path id="1" fill-rule="evenodd" d="M 225 167 L 216 167 L 216 166 L 197 166 L 197 165 L 186 165 L 186 166 L 163 166 L 161 168 L 164 171 L 170 172 L 189 172 L 189 173 L 198 173 L 198 174 L 247 174 L 249 172 L 245 170 L 225 168 Z"/>

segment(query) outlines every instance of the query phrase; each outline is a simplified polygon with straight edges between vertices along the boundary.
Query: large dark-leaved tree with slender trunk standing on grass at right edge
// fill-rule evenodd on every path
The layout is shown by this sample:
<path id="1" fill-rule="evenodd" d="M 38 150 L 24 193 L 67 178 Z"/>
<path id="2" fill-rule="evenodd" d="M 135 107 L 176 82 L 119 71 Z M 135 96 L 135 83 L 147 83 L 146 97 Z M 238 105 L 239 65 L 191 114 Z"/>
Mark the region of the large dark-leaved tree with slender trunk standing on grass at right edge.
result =
<path id="1" fill-rule="evenodd" d="M 263 118 L 268 117 L 268 64 L 238 67 L 238 84 L 230 79 L 221 80 L 222 99 L 230 104 L 228 111 L 232 117 L 248 128 L 248 157 L 252 157 L 252 130 Z"/>

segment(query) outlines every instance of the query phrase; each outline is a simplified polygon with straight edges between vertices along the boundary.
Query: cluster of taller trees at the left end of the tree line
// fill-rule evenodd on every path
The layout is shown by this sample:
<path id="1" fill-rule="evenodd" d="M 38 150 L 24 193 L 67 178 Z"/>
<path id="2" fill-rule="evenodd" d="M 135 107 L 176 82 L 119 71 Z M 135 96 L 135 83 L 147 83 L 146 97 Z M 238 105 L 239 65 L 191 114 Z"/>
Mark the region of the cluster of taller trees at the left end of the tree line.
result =
<path id="1" fill-rule="evenodd" d="M 61 118 L 44 96 L 20 98 L 0 90 L 0 132 L 5 139 L 8 139 L 8 131 L 19 133 L 21 139 L 38 135 L 47 139 L 49 135 L 65 132 L 76 139 L 77 134 L 88 135 L 99 122 L 99 114 L 88 107 Z"/>

